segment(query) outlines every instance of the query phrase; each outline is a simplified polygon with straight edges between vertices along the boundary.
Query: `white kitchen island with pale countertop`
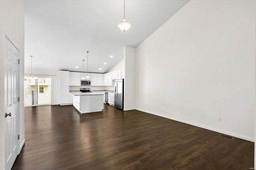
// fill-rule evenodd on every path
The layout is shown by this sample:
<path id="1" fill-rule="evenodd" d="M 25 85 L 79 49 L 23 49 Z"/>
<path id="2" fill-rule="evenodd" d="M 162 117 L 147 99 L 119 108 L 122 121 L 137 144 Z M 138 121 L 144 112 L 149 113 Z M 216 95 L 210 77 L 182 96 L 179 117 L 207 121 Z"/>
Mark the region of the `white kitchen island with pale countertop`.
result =
<path id="1" fill-rule="evenodd" d="M 73 96 L 73 106 L 80 113 L 102 111 L 104 108 L 104 93 L 102 92 L 69 92 Z"/>

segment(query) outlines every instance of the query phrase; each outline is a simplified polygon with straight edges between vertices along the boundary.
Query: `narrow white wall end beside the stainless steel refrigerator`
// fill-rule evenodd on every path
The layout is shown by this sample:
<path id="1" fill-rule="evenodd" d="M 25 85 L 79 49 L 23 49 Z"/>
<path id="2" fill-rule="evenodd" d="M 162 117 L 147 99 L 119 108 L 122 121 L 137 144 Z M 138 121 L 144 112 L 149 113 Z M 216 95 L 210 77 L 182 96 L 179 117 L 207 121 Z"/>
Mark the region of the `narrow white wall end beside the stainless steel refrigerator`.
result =
<path id="1" fill-rule="evenodd" d="M 125 79 L 124 79 L 124 110 L 136 107 L 135 96 L 135 57 L 136 49 L 124 47 Z"/>

